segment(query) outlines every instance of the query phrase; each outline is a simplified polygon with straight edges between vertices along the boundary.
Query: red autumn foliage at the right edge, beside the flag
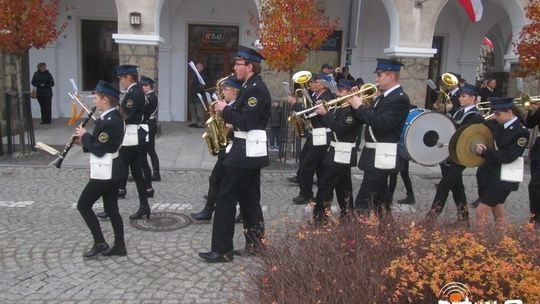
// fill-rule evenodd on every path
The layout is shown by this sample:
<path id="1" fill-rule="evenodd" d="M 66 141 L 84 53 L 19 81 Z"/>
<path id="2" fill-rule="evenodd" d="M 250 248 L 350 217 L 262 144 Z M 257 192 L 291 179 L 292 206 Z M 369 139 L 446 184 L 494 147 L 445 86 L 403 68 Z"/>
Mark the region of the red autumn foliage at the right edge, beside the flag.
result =
<path id="1" fill-rule="evenodd" d="M 540 76 L 540 0 L 530 0 L 525 7 L 529 19 L 516 45 L 521 70 L 519 76 Z"/>

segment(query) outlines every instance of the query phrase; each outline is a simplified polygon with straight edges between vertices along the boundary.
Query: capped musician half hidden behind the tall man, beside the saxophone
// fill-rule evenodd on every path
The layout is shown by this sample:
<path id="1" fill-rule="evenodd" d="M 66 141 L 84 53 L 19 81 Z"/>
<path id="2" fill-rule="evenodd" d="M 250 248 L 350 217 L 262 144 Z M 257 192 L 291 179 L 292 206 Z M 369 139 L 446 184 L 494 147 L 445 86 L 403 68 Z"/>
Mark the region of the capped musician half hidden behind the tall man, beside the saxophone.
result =
<path id="1" fill-rule="evenodd" d="M 225 97 L 224 101 L 228 104 L 228 106 L 233 107 L 233 104 L 235 103 L 236 98 L 238 98 L 241 89 L 242 83 L 234 76 L 229 76 L 229 78 L 227 78 L 223 82 L 223 95 Z M 212 169 L 210 178 L 208 179 L 209 187 L 206 205 L 201 212 L 190 214 L 190 216 L 194 220 L 209 221 L 212 219 L 212 214 L 214 213 L 214 210 L 216 208 L 216 199 L 219 190 L 219 184 L 223 180 L 223 177 L 226 173 L 226 167 L 224 165 L 224 162 L 225 157 L 227 157 L 227 153 L 228 152 L 226 148 L 222 148 L 219 150 L 217 162 L 214 165 L 214 169 Z"/>

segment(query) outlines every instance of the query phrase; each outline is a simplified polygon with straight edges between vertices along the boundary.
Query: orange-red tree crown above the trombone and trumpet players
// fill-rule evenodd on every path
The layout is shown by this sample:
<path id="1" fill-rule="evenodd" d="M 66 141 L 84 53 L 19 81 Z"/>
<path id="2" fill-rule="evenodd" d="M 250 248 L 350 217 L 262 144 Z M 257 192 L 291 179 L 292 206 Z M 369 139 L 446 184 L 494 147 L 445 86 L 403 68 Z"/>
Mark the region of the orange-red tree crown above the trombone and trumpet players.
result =
<path id="1" fill-rule="evenodd" d="M 273 70 L 289 71 L 317 50 L 334 31 L 330 21 L 317 9 L 314 0 L 260 0 L 259 16 L 252 18 L 258 28 L 261 54 Z"/>

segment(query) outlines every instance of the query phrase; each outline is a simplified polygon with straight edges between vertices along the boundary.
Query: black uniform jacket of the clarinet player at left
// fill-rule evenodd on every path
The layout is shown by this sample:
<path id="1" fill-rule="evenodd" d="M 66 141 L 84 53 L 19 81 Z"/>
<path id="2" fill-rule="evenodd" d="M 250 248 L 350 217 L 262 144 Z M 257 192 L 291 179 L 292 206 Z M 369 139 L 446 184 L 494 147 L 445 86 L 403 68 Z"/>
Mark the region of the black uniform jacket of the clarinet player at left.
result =
<path id="1" fill-rule="evenodd" d="M 85 133 L 81 138 L 84 152 L 90 152 L 97 157 L 105 153 L 115 153 L 120 149 L 124 139 L 124 122 L 114 109 L 104 117 L 95 121 L 92 134 Z M 125 165 L 121 157 L 113 159 L 112 181 L 119 181 L 125 177 Z"/>

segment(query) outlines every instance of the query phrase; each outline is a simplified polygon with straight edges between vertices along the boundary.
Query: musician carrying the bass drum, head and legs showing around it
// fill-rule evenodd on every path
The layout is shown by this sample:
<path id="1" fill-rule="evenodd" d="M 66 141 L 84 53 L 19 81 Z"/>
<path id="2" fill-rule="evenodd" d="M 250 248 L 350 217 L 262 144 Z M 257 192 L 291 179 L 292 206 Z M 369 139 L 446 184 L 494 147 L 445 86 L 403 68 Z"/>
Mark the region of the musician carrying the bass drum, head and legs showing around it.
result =
<path id="1" fill-rule="evenodd" d="M 478 89 L 470 84 L 465 84 L 461 89 L 459 103 L 461 107 L 455 111 L 453 105 L 447 104 L 447 112 L 454 113 L 452 121 L 456 128 L 467 126 L 474 123 L 483 123 L 482 115 L 476 110 L 476 101 L 478 99 Z M 428 221 L 434 221 L 441 214 L 448 194 L 452 191 L 454 202 L 458 209 L 458 222 L 469 224 L 469 209 L 467 207 L 467 197 L 465 196 L 465 187 L 463 186 L 464 166 L 458 165 L 453 161 L 441 163 L 442 178 L 437 185 L 437 192 L 431 210 L 426 216 Z"/>

